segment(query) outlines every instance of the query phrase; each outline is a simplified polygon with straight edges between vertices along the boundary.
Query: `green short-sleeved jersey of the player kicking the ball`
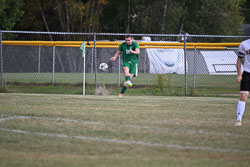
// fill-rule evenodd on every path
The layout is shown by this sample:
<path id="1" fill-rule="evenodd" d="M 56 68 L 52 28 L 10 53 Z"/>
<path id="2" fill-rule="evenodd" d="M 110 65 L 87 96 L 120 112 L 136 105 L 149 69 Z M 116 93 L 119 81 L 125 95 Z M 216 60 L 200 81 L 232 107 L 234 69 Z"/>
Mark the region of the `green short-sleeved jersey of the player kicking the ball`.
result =
<path id="1" fill-rule="evenodd" d="M 125 42 L 123 42 L 120 46 L 119 46 L 119 50 L 121 52 L 123 52 L 122 54 L 122 61 L 123 62 L 134 62 L 134 63 L 138 63 L 138 55 L 137 54 L 132 54 L 129 52 L 130 49 L 132 49 L 133 51 L 135 51 L 135 49 L 138 48 L 139 49 L 139 44 L 137 42 L 132 42 L 131 45 L 127 45 Z"/>

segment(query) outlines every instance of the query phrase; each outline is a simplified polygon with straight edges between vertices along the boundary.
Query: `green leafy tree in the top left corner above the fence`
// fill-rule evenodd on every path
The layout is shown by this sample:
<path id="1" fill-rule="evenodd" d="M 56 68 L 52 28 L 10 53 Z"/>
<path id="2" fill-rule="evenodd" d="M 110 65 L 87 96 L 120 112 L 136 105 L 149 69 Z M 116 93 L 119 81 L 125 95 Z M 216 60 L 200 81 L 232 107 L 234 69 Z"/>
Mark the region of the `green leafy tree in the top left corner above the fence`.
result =
<path id="1" fill-rule="evenodd" d="M 0 30 L 12 30 L 23 15 L 22 0 L 0 0 Z"/>

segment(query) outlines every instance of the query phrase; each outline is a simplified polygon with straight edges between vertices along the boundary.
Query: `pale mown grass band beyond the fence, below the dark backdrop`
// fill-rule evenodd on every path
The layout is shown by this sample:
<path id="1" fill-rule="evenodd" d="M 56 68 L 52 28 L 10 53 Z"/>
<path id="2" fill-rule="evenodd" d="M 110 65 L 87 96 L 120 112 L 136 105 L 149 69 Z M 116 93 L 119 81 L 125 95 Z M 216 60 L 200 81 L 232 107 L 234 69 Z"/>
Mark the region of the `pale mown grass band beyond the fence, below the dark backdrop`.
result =
<path id="1" fill-rule="evenodd" d="M 165 84 L 175 86 L 185 85 L 185 76 L 181 74 L 166 74 L 164 75 Z M 55 73 L 55 83 L 60 84 L 80 84 L 82 83 L 82 73 Z M 150 86 L 157 82 L 157 74 L 140 73 L 138 77 L 133 79 L 137 85 Z M 226 87 L 237 87 L 235 75 L 196 75 L 197 86 L 217 87 L 219 85 Z M 5 82 L 14 83 L 52 83 L 52 73 L 4 73 L 3 79 Z M 119 76 L 117 73 L 97 73 L 97 82 L 105 84 L 117 84 Z M 123 74 L 120 75 L 121 82 L 124 80 Z M 187 81 L 190 86 L 193 85 L 193 75 L 187 76 Z M 86 82 L 88 84 L 95 83 L 95 74 L 86 73 Z"/>

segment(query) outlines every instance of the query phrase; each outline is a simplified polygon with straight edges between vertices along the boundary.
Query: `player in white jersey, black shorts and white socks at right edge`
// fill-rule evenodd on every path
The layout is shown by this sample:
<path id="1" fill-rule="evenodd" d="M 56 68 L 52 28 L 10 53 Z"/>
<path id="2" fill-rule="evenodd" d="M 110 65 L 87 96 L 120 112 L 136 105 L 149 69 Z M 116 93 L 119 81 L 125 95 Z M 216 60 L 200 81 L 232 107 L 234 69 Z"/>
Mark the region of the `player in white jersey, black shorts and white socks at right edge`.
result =
<path id="1" fill-rule="evenodd" d="M 244 60 L 244 61 L 242 61 Z M 243 62 L 243 74 L 241 63 Z M 240 100 L 237 105 L 237 121 L 235 126 L 242 125 L 242 117 L 245 112 L 246 100 L 250 90 L 250 39 L 241 42 L 237 59 L 237 82 L 240 83 Z"/>

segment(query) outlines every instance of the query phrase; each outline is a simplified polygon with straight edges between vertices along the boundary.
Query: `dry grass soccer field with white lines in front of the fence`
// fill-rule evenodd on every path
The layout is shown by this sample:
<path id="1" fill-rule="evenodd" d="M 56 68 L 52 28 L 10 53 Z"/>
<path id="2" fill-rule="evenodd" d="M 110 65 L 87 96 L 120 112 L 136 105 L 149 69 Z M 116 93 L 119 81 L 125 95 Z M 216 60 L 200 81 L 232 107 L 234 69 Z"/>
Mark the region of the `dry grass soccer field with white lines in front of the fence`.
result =
<path id="1" fill-rule="evenodd" d="M 237 98 L 0 94 L 0 166 L 250 165 Z"/>

